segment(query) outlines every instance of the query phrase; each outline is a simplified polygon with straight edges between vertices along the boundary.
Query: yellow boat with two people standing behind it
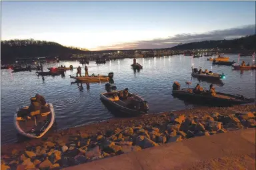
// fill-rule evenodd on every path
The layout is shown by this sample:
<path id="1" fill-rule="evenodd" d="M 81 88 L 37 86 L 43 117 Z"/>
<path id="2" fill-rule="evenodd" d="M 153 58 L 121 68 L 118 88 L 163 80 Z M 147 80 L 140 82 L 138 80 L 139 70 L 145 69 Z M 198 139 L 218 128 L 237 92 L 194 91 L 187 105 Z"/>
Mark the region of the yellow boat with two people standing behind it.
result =
<path id="1" fill-rule="evenodd" d="M 113 72 L 109 72 L 107 76 L 101 76 L 101 75 L 91 75 L 91 76 L 70 76 L 70 78 L 73 78 L 75 80 L 79 80 L 80 82 L 107 82 L 110 78 L 113 78 L 114 74 Z"/>

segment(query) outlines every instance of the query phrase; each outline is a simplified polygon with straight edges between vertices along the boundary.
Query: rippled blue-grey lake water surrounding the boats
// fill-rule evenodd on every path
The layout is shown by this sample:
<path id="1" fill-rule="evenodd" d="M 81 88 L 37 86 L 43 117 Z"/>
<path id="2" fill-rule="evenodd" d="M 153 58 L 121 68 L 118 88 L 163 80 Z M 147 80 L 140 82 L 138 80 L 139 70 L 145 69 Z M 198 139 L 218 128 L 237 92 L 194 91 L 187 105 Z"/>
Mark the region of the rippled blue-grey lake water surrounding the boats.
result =
<path id="1" fill-rule="evenodd" d="M 230 60 L 237 61 L 237 55 L 230 54 Z M 213 72 L 225 73 L 224 85 L 215 85 L 218 92 L 229 94 L 243 94 L 255 98 L 255 70 L 233 70 L 231 66 L 212 66 L 208 57 L 192 58 L 192 56 L 163 56 L 161 58 L 138 58 L 137 62 L 143 65 L 143 70 L 131 69 L 133 59 L 107 61 L 106 64 L 89 63 L 89 74 L 105 74 L 114 72 L 115 86 L 118 90 L 129 88 L 129 92 L 139 94 L 149 102 L 149 113 L 165 112 L 193 108 L 183 101 L 171 96 L 174 81 L 179 81 L 181 88 L 185 88 L 185 81 L 191 80 L 191 66 Z M 251 62 L 252 57 L 241 57 L 245 62 Z M 59 65 L 73 67 L 81 66 L 77 61 L 61 61 Z M 44 64 L 47 67 L 57 66 L 57 63 Z M 84 66 L 83 66 L 84 68 Z M 28 106 L 30 97 L 39 93 L 45 96 L 47 102 L 53 103 L 57 129 L 71 128 L 93 122 L 113 118 L 113 115 L 101 104 L 99 93 L 105 92 L 105 83 L 83 84 L 80 91 L 77 84 L 71 84 L 69 75 L 75 75 L 76 70 L 65 72 L 65 77 L 45 76 L 37 77 L 32 72 L 15 72 L 1 70 L 1 143 L 17 141 L 17 131 L 13 125 L 13 114 L 19 106 Z M 82 69 L 82 74 L 85 70 Z M 192 78 L 194 87 L 198 80 Z M 209 89 L 210 82 L 201 82 L 203 88 Z"/>

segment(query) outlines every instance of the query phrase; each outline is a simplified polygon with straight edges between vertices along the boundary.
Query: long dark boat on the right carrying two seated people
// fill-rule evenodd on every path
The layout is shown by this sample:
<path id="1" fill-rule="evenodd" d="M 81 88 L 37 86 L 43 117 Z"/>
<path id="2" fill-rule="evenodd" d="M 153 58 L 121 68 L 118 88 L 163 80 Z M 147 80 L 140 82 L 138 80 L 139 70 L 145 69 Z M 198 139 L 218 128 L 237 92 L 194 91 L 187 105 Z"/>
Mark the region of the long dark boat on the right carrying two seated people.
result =
<path id="1" fill-rule="evenodd" d="M 207 104 L 211 106 L 232 106 L 235 104 L 249 104 L 255 102 L 255 99 L 253 98 L 245 98 L 243 96 L 235 96 L 221 92 L 216 92 L 215 96 L 211 96 L 208 91 L 203 91 L 201 94 L 195 94 L 193 88 L 183 88 L 181 90 L 173 88 L 172 95 L 175 98 L 191 103 Z"/>

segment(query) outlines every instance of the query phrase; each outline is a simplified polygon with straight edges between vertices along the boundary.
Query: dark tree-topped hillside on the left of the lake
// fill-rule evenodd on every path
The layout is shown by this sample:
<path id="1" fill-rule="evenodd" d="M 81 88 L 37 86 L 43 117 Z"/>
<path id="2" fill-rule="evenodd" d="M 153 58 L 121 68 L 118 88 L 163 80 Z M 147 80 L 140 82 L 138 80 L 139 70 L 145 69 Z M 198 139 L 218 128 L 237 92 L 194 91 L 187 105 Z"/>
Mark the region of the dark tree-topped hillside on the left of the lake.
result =
<path id="1" fill-rule="evenodd" d="M 27 40 L 1 41 L 1 62 L 15 62 L 18 57 L 40 57 L 50 56 L 51 58 L 59 56 L 61 59 L 67 59 L 72 54 L 84 54 L 86 50 L 62 46 L 56 42 Z"/>

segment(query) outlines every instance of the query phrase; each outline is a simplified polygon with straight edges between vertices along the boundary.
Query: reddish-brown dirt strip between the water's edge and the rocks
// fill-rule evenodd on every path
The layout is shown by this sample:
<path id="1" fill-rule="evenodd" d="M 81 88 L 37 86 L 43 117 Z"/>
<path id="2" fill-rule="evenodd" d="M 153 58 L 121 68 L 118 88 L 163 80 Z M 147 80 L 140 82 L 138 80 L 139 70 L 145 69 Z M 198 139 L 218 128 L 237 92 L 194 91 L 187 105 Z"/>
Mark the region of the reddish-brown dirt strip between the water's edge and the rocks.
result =
<path id="1" fill-rule="evenodd" d="M 97 133 L 98 131 L 106 131 L 107 129 L 115 129 L 115 128 L 125 128 L 125 126 L 135 126 L 137 124 L 143 125 L 152 125 L 152 124 L 161 124 L 163 122 L 166 122 L 166 115 L 173 113 L 177 116 L 179 115 L 193 115 L 193 116 L 204 116 L 205 114 L 213 113 L 213 112 L 219 112 L 222 115 L 228 115 L 228 114 L 234 114 L 235 111 L 237 112 L 251 112 L 251 110 L 256 110 L 256 105 L 237 105 L 237 106 L 231 106 L 231 107 L 208 107 L 208 106 L 199 106 L 196 108 L 189 108 L 184 110 L 175 110 L 175 111 L 167 111 L 167 112 L 159 112 L 159 113 L 152 113 L 152 114 L 145 114 L 142 116 L 137 117 L 131 117 L 131 118 L 118 118 L 113 117 L 109 120 L 103 120 L 100 122 L 95 122 L 92 124 L 85 124 L 82 126 L 76 126 L 72 128 L 67 129 L 59 129 L 59 130 L 50 130 L 47 132 L 43 137 L 39 139 L 28 139 L 21 142 L 15 142 L 15 143 L 5 143 L 1 145 L 1 155 L 2 153 L 5 153 L 5 148 L 3 147 L 13 147 L 16 148 L 23 146 L 25 143 L 29 144 L 36 144 L 36 143 L 42 143 L 45 141 L 45 139 L 51 139 L 51 137 L 57 135 L 62 135 L 65 137 L 65 135 L 73 135 L 73 133 Z"/>

